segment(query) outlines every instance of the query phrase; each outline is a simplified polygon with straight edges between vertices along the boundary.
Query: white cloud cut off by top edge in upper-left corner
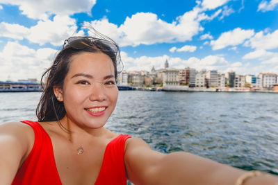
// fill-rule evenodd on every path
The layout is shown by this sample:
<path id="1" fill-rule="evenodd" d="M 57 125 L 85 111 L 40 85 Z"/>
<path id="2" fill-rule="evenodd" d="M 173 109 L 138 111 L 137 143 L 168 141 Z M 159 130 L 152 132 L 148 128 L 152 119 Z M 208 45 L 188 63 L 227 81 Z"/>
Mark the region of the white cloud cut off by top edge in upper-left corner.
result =
<path id="1" fill-rule="evenodd" d="M 90 15 L 96 0 L 0 0 L 0 3 L 19 6 L 22 14 L 33 19 L 47 19 L 49 15 L 73 15 L 78 12 L 87 12 Z"/>

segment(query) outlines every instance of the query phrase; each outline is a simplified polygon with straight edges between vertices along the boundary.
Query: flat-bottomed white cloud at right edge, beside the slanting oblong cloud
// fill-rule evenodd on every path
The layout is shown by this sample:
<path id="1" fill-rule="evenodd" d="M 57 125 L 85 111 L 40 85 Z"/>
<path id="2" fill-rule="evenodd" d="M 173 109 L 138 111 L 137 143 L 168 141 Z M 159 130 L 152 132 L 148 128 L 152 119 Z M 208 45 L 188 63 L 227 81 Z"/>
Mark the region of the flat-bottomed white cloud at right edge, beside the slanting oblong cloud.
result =
<path id="1" fill-rule="evenodd" d="M 277 49 L 278 48 L 278 30 L 273 33 L 263 34 L 263 31 L 256 33 L 254 37 L 245 42 L 245 46 L 251 46 L 254 49 Z"/>

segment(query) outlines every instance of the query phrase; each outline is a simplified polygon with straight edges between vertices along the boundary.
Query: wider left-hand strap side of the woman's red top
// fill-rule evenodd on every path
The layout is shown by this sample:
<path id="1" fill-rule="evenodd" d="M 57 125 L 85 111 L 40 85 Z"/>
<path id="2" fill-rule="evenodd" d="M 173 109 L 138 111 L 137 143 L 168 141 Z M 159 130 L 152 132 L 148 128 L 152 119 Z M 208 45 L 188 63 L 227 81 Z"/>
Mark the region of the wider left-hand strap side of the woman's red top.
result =
<path id="1" fill-rule="evenodd" d="M 14 184 L 62 184 L 56 168 L 51 139 L 40 123 L 22 121 L 33 128 L 35 141 L 33 148 L 17 171 Z"/>

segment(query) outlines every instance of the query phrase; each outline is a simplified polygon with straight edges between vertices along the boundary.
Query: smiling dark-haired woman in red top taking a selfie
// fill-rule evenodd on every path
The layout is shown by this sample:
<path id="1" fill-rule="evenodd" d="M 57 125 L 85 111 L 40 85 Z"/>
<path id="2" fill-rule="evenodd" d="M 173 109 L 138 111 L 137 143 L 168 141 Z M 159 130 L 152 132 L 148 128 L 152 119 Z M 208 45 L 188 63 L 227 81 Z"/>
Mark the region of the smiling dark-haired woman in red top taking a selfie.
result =
<path id="1" fill-rule="evenodd" d="M 39 122 L 0 125 L 1 184 L 275 184 L 278 178 L 149 148 L 104 125 L 117 103 L 117 44 L 70 37 L 44 73 Z M 45 76 L 45 78 L 44 78 Z"/>

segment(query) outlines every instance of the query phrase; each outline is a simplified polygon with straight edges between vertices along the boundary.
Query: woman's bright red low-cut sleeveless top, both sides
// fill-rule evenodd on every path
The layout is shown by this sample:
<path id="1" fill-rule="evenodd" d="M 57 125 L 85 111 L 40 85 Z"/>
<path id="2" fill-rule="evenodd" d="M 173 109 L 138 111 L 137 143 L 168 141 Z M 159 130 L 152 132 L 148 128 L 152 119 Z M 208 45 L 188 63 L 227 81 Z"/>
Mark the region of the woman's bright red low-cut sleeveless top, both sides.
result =
<path id="1" fill-rule="evenodd" d="M 35 141 L 33 148 L 24 164 L 19 168 L 13 185 L 15 184 L 62 184 L 56 168 L 51 139 L 40 123 L 22 121 L 33 127 Z M 129 135 L 120 134 L 106 146 L 104 160 L 95 184 L 126 184 L 126 170 L 124 166 L 124 143 Z"/>

